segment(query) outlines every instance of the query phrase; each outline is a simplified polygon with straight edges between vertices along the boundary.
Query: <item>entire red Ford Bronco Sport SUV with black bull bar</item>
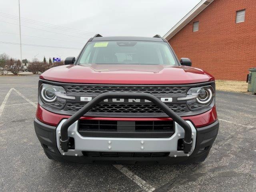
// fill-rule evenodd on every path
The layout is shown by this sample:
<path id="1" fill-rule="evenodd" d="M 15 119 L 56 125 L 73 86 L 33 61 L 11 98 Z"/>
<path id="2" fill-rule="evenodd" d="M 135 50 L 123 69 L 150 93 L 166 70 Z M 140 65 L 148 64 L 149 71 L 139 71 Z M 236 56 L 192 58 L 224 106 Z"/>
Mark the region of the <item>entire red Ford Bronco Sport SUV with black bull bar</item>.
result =
<path id="1" fill-rule="evenodd" d="M 34 128 L 62 162 L 202 162 L 219 128 L 214 77 L 159 35 L 97 34 L 40 75 Z"/>

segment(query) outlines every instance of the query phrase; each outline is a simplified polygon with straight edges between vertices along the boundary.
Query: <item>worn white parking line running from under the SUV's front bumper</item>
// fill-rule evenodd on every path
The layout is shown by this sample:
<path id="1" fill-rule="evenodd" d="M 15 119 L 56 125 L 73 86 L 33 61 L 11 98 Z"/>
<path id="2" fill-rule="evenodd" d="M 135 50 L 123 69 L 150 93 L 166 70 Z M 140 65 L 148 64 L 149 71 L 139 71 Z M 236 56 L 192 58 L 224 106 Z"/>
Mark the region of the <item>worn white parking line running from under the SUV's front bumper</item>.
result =
<path id="1" fill-rule="evenodd" d="M 115 168 L 117 168 L 120 172 L 125 174 L 128 178 L 130 178 L 132 181 L 134 181 L 138 186 L 140 186 L 142 189 L 144 189 L 146 192 L 152 192 L 155 190 L 154 187 L 152 187 L 150 184 L 148 184 L 146 181 L 144 181 L 142 178 L 138 177 L 136 174 L 128 170 L 122 165 L 113 165 Z"/>

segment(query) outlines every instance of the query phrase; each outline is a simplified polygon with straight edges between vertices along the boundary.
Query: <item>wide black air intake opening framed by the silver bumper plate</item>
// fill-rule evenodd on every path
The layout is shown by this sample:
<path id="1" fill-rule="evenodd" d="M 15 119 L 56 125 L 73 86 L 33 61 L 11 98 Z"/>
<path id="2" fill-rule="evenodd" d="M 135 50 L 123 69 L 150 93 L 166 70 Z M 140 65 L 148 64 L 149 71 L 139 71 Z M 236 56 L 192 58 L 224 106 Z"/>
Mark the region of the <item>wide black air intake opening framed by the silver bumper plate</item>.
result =
<path id="1" fill-rule="evenodd" d="M 79 120 L 78 132 L 95 137 L 170 137 L 174 122 Z"/>

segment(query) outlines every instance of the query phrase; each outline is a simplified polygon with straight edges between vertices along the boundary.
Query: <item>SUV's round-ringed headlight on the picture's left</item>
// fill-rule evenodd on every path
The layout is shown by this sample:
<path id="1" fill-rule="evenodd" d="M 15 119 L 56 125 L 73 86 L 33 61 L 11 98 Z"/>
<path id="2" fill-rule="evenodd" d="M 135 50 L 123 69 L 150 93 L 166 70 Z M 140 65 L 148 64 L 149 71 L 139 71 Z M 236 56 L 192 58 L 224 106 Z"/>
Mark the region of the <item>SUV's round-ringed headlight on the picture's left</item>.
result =
<path id="1" fill-rule="evenodd" d="M 44 104 L 57 109 L 62 109 L 66 104 L 66 100 L 76 99 L 74 96 L 67 96 L 62 86 L 50 84 L 42 84 L 38 94 Z"/>

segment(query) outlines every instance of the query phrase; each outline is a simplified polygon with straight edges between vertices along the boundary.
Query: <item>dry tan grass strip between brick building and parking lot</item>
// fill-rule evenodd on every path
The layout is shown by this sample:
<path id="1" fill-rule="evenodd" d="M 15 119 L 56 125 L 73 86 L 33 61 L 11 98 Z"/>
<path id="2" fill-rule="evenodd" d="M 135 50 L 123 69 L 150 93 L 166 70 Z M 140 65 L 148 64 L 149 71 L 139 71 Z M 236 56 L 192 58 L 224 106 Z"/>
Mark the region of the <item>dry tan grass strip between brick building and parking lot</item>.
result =
<path id="1" fill-rule="evenodd" d="M 216 80 L 216 90 L 246 93 L 248 83 L 245 81 Z"/>

